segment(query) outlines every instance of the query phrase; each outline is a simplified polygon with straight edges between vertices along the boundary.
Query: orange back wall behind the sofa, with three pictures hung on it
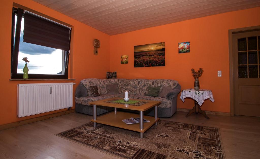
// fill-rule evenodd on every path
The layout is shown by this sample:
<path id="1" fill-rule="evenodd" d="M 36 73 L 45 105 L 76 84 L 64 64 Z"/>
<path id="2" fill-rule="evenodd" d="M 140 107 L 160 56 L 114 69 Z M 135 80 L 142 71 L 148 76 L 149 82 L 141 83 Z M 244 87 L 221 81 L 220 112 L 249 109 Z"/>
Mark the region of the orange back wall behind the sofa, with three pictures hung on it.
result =
<path id="1" fill-rule="evenodd" d="M 202 109 L 230 112 L 228 30 L 260 25 L 259 15 L 258 7 L 111 36 L 110 71 L 117 71 L 118 78 L 174 79 L 187 89 L 194 84 L 191 68 L 202 67 L 200 88 L 211 89 L 215 99 L 205 101 Z M 191 52 L 178 54 L 178 42 L 186 41 Z M 158 42 L 165 42 L 165 67 L 134 68 L 134 46 Z M 121 55 L 129 55 L 128 64 L 120 64 Z M 179 97 L 178 108 L 194 106 L 193 100 L 183 103 Z"/>

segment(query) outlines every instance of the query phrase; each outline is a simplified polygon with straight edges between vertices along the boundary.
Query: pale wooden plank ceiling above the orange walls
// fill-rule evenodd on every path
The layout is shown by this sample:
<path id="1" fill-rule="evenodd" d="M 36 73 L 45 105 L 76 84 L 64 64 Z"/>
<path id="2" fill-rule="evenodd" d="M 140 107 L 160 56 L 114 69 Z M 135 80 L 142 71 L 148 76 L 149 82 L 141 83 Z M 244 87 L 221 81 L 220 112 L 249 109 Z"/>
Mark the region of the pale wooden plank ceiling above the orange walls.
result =
<path id="1" fill-rule="evenodd" d="M 260 0 L 34 0 L 108 35 L 260 6 Z"/>

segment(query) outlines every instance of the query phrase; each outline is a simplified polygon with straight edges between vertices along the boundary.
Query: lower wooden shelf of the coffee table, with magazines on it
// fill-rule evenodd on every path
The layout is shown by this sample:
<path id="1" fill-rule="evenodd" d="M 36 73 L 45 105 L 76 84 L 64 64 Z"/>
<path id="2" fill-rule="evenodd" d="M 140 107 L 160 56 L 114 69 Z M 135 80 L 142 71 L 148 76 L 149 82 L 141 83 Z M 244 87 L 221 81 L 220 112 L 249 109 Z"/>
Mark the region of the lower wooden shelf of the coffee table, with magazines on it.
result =
<path id="1" fill-rule="evenodd" d="M 155 124 L 160 119 L 160 118 L 157 118 L 155 120 L 155 118 L 153 116 L 144 115 L 144 119 L 149 120 L 150 122 L 144 122 L 144 129 L 140 130 L 139 123 L 126 124 L 122 121 L 123 119 L 128 119 L 131 117 L 138 118 L 140 116 L 139 116 L 139 114 L 134 114 L 134 113 L 130 113 L 130 112 L 117 111 L 115 113 L 112 111 L 107 114 L 98 116 L 96 120 L 92 119 L 90 121 L 144 133 L 146 130 L 148 130 L 153 124 Z"/>

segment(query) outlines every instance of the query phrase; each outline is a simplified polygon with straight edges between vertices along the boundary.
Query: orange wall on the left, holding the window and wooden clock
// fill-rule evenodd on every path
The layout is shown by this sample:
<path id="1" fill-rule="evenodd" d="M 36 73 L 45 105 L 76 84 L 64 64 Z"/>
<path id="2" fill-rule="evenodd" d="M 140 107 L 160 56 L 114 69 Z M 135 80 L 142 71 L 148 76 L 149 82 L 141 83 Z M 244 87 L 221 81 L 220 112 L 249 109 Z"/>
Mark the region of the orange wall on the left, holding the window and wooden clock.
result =
<path id="1" fill-rule="evenodd" d="M 69 78 L 76 78 L 76 81 L 9 81 L 11 71 L 11 20 L 13 2 L 72 25 L 73 32 L 69 63 Z M 67 110 L 56 110 L 22 118 L 16 117 L 17 84 L 19 83 L 75 82 L 75 93 L 76 86 L 79 84 L 81 79 L 106 77 L 106 72 L 109 71 L 110 67 L 109 35 L 31 0 L 2 0 L 0 1 L 0 15 L 0 59 L 2 67 L 0 77 L 0 125 Z M 94 38 L 99 39 L 101 42 L 99 55 L 97 56 L 93 54 Z M 73 105 L 74 109 L 75 103 Z"/>

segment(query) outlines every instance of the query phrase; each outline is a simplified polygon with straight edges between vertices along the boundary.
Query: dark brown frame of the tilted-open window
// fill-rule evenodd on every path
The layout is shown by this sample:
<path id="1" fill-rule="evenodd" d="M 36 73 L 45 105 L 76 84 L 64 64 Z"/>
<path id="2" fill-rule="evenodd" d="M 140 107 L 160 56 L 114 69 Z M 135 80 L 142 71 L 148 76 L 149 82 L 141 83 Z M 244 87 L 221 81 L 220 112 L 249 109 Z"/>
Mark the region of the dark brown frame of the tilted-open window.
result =
<path id="1" fill-rule="evenodd" d="M 17 73 L 17 65 L 18 65 L 18 54 L 19 54 L 19 44 L 16 41 L 20 41 L 20 35 L 19 36 L 14 36 L 15 34 L 15 15 L 17 14 L 17 21 L 18 21 L 18 10 L 20 12 L 22 11 L 22 16 L 24 13 L 24 10 L 20 8 L 12 8 L 12 33 L 11 33 L 11 78 L 23 78 L 23 74 Z M 20 18 L 20 17 L 19 17 Z M 40 17 L 39 17 L 40 18 Z M 21 25 L 20 28 L 21 30 Z M 71 28 L 72 29 L 72 28 Z M 16 27 L 17 30 L 17 27 Z M 70 30 L 70 37 L 69 37 L 69 45 L 70 45 L 70 40 L 71 40 L 71 32 Z M 17 33 L 17 31 L 16 31 Z M 21 33 L 20 33 L 21 34 Z M 15 38 L 16 37 L 16 38 Z M 18 37 L 18 38 L 17 38 Z M 18 51 L 17 51 L 18 47 Z M 69 66 L 69 52 L 70 51 L 64 51 L 64 75 L 51 75 L 51 74 L 29 74 L 29 78 L 42 78 L 42 79 L 47 79 L 47 78 L 55 78 L 55 79 L 68 79 L 68 66 Z"/>

